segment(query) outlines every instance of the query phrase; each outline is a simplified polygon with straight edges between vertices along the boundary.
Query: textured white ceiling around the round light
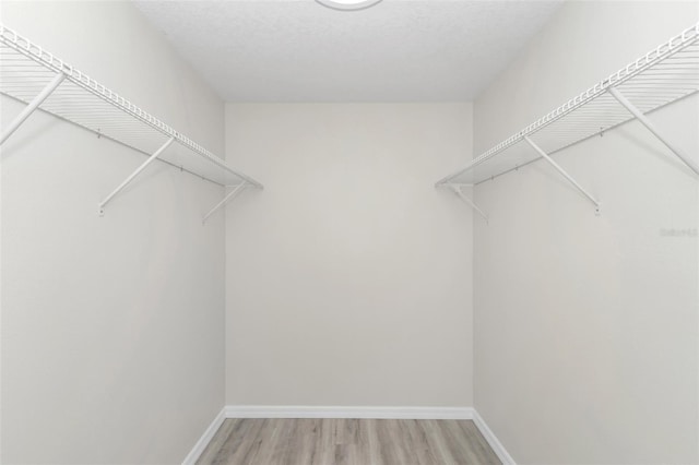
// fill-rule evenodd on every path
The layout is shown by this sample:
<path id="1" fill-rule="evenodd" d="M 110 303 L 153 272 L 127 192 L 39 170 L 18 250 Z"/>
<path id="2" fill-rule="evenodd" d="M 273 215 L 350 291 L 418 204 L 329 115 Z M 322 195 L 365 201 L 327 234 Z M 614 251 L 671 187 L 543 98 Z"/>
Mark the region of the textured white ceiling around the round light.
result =
<path id="1" fill-rule="evenodd" d="M 135 3 L 228 102 L 453 102 L 472 100 L 561 1 Z"/>

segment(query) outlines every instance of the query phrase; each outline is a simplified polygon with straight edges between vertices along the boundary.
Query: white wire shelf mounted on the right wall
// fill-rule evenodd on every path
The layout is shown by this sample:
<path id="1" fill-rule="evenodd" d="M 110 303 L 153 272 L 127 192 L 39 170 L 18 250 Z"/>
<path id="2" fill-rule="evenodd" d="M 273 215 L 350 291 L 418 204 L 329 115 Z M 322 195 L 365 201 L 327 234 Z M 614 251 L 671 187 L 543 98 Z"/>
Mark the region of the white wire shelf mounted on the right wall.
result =
<path id="1" fill-rule="evenodd" d="M 555 154 L 639 118 L 638 114 L 630 112 L 633 107 L 640 114 L 648 114 L 698 91 L 699 23 L 477 156 L 464 169 L 439 180 L 437 186 L 478 184 L 494 179 L 543 158 L 536 147 L 547 155 Z M 661 138 L 650 121 L 640 117 L 643 124 Z M 697 171 L 691 158 L 671 148 Z"/>

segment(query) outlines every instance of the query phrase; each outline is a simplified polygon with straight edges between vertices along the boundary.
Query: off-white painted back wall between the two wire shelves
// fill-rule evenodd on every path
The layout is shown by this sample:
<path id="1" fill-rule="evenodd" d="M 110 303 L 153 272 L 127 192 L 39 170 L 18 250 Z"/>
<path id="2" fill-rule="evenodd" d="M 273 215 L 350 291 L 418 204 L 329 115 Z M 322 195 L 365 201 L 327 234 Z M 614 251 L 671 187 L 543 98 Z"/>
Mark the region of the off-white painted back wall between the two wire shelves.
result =
<path id="1" fill-rule="evenodd" d="M 471 104 L 226 106 L 226 402 L 471 406 Z M 251 246 L 253 245 L 253 246 Z"/>

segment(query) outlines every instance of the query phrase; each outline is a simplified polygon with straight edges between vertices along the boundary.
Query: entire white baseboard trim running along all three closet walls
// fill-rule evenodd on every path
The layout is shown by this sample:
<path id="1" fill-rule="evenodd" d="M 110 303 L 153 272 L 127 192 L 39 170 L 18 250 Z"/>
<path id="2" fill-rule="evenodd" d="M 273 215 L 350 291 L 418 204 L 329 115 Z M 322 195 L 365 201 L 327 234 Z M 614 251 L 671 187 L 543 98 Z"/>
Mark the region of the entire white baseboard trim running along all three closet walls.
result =
<path id="1" fill-rule="evenodd" d="M 226 418 L 374 418 L 414 420 L 473 420 L 503 465 L 516 465 L 485 420 L 472 407 L 324 407 L 287 405 L 228 405 L 211 422 L 182 465 L 193 465 Z"/>

